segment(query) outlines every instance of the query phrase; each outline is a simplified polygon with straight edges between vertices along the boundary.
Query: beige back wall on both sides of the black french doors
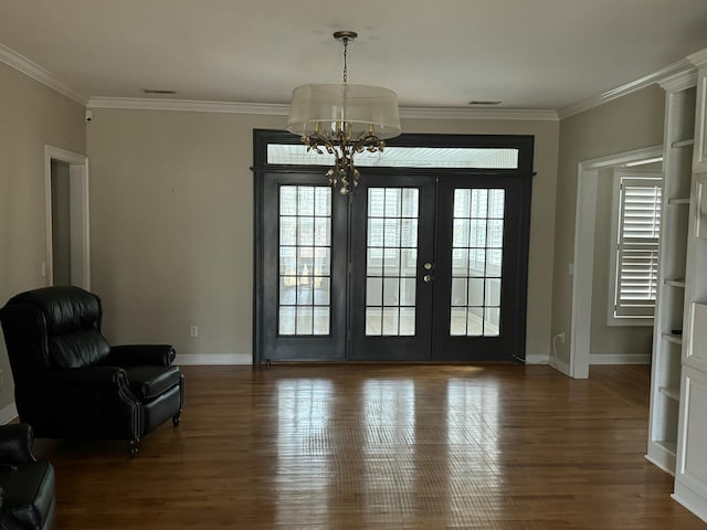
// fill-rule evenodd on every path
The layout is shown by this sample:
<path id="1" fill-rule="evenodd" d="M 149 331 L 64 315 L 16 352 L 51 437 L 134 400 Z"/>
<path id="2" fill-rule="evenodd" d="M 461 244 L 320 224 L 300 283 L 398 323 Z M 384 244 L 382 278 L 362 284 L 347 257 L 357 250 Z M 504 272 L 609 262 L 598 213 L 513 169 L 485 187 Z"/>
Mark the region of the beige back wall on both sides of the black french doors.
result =
<path id="1" fill-rule="evenodd" d="M 284 125 L 284 116 L 94 109 L 92 275 L 109 340 L 252 353 L 252 130 Z M 535 135 L 527 351 L 547 360 L 559 124 L 409 119 L 403 130 Z"/>

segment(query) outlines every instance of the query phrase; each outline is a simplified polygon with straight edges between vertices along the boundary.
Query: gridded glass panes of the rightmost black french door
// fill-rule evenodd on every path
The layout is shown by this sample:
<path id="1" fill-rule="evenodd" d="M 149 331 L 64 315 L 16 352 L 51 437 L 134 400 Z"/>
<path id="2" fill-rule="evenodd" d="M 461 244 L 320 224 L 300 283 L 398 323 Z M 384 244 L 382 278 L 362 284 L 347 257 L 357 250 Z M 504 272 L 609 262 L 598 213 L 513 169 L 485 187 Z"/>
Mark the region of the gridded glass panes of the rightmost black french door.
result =
<path id="1" fill-rule="evenodd" d="M 500 336 L 505 190 L 454 190 L 450 335 Z"/>

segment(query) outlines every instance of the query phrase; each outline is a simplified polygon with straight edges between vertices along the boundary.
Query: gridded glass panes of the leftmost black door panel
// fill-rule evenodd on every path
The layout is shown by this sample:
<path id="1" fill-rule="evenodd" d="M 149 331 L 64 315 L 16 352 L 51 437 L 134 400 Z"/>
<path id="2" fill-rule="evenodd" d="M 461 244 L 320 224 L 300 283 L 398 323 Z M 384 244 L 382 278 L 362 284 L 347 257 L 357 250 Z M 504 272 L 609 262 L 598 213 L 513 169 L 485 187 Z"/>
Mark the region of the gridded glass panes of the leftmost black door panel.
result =
<path id="1" fill-rule="evenodd" d="M 330 335 L 330 187 L 279 187 L 278 254 L 277 333 Z"/>

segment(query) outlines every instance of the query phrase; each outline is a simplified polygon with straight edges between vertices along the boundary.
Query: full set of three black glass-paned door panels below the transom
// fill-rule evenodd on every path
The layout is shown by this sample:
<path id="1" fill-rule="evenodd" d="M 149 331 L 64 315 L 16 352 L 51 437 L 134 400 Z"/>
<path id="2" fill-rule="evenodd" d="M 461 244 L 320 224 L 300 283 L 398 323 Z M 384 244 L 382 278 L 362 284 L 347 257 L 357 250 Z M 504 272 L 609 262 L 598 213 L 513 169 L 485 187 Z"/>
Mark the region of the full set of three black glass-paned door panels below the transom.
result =
<path id="1" fill-rule="evenodd" d="M 350 195 L 320 168 L 254 170 L 254 361 L 525 358 L 519 138 L 518 170 L 363 168 Z"/>

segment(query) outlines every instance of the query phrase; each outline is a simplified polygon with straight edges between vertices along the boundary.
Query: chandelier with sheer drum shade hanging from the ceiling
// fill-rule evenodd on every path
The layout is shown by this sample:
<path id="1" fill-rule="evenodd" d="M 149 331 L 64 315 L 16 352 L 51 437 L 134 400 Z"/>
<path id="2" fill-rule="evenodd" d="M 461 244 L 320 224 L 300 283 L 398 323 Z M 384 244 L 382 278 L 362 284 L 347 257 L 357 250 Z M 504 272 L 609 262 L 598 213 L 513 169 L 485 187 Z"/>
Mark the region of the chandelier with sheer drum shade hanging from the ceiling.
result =
<path id="1" fill-rule="evenodd" d="M 357 152 L 382 152 L 384 139 L 400 135 L 398 95 L 388 88 L 347 83 L 348 43 L 358 34 L 337 31 L 344 42 L 344 82 L 302 85 L 292 93 L 287 130 L 302 137 L 310 150 L 334 155 L 327 171 L 329 186 L 342 194 L 358 186 L 359 171 L 354 165 Z M 324 150 L 323 150 L 324 149 Z"/>

